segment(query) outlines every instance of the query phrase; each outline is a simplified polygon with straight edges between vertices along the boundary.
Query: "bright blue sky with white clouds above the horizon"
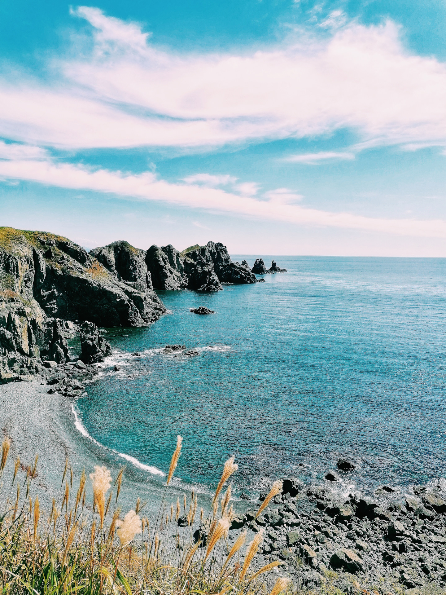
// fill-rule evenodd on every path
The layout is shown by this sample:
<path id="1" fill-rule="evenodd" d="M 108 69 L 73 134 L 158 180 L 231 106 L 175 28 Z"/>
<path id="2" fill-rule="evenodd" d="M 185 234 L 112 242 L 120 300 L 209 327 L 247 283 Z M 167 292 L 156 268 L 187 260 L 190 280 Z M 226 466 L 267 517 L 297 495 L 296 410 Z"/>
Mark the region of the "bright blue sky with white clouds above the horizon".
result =
<path id="1" fill-rule="evenodd" d="M 0 4 L 0 225 L 446 256 L 444 0 Z"/>

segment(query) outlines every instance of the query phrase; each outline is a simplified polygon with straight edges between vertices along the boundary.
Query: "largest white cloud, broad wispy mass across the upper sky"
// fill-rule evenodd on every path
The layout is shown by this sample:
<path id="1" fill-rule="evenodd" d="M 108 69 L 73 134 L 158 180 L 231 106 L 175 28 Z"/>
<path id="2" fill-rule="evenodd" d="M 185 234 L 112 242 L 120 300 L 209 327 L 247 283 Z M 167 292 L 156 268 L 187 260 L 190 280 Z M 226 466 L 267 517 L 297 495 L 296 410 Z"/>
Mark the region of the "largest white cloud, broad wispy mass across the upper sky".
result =
<path id="1" fill-rule="evenodd" d="M 6 77 L 2 136 L 61 148 L 215 147 L 347 127 L 369 146 L 446 142 L 445 65 L 410 54 L 391 21 L 264 51 L 180 55 L 98 8 L 76 15 L 94 28 L 92 54 L 60 61 L 51 86 Z"/>

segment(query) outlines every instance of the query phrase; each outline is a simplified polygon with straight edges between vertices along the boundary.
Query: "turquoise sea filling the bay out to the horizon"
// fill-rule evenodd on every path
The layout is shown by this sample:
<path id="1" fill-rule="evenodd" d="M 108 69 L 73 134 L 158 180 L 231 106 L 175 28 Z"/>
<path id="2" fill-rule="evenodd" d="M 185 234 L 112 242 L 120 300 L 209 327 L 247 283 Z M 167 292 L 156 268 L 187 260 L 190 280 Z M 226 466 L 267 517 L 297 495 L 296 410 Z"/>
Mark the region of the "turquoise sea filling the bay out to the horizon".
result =
<path id="1" fill-rule="evenodd" d="M 446 260 L 276 260 L 288 272 L 265 283 L 158 292 L 169 314 L 109 329 L 114 356 L 77 401 L 90 436 L 166 471 L 181 434 L 177 475 L 203 490 L 230 455 L 253 495 L 284 475 L 312 483 L 339 455 L 366 491 L 444 475 Z M 200 355 L 161 353 L 172 343 Z"/>

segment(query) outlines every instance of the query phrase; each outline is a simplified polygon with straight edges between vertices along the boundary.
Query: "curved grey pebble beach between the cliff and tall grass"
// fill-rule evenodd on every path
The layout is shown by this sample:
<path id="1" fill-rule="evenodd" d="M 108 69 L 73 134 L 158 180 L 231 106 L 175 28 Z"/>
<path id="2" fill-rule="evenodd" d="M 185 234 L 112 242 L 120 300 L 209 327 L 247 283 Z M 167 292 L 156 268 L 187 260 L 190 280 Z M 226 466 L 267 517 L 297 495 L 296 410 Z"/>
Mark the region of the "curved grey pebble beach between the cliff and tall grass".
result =
<path id="1" fill-rule="evenodd" d="M 51 508 L 52 499 L 58 500 L 65 460 L 73 470 L 73 485 L 76 486 L 81 472 L 87 475 L 87 494 L 93 496 L 89 474 L 95 465 L 105 465 L 113 480 L 125 466 L 119 503 L 123 513 L 134 509 L 138 497 L 147 502 L 143 515 L 156 518 L 165 485 L 162 477 L 139 469 L 123 453 L 113 452 L 97 440 L 81 432 L 81 423 L 74 413 L 74 400 L 57 392 L 48 394 L 49 386 L 37 382 L 18 382 L 0 386 L 0 427 L 2 439 L 11 439 L 10 455 L 5 467 L 2 483 L 7 486 L 14 472 L 14 460 L 20 458 L 23 483 L 26 469 L 33 466 L 39 455 L 37 474 L 32 482 L 30 495 L 39 496 L 42 508 Z M 76 425 L 77 424 L 77 425 Z M 175 445 L 172 445 L 172 452 Z M 128 464 L 130 462 L 130 465 Z M 127 464 L 126 464 L 127 463 Z M 158 478 L 158 479 L 157 479 Z M 160 481 L 161 479 L 161 481 Z M 7 493 L 3 490 L 2 499 Z M 189 499 L 189 486 L 170 484 L 165 501 L 175 503 L 177 497 Z M 209 509 L 209 494 L 197 494 L 199 506 Z"/>

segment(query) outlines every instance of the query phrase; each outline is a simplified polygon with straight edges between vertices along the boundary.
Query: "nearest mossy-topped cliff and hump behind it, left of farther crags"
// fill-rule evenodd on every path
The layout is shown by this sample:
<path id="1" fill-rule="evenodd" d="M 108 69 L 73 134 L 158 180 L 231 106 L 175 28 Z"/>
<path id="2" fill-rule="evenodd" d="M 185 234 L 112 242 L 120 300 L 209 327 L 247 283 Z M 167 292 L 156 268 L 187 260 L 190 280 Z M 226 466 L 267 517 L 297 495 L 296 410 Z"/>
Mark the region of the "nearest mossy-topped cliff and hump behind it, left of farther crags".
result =
<path id="1" fill-rule="evenodd" d="M 122 244 L 106 268 L 65 237 L 0 228 L 0 376 L 39 374 L 39 358 L 65 362 L 64 320 L 140 326 L 165 312 L 145 253 Z"/>

